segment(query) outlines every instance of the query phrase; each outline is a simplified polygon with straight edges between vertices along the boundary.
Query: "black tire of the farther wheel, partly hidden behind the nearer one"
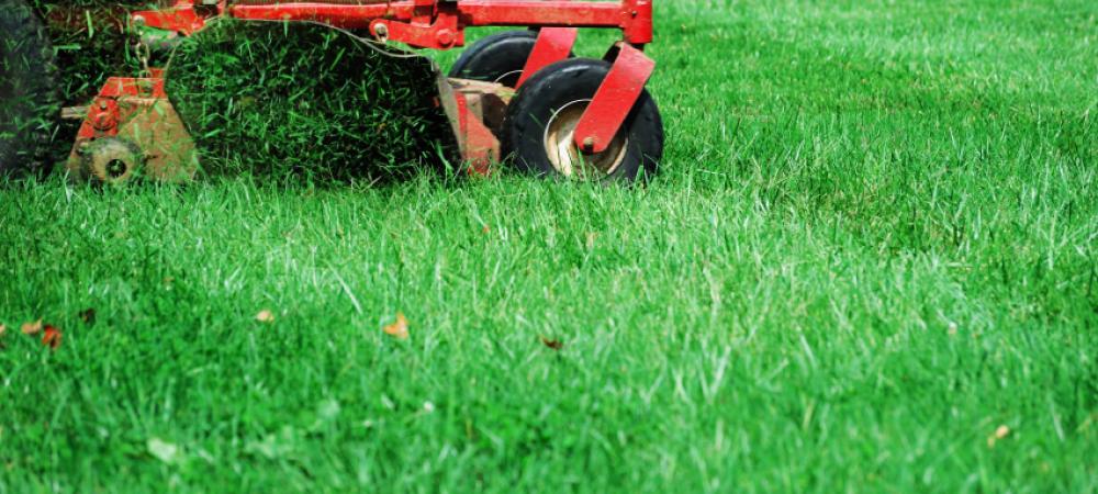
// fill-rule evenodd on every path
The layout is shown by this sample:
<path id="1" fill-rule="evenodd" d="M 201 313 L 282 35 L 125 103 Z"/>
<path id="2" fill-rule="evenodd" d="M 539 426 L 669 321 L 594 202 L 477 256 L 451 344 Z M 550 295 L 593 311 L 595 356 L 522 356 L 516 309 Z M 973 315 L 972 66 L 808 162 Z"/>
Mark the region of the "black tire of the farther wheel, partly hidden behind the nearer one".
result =
<path id="1" fill-rule="evenodd" d="M 536 31 L 507 31 L 488 36 L 458 57 L 450 77 L 500 82 L 514 88 L 537 41 Z"/>

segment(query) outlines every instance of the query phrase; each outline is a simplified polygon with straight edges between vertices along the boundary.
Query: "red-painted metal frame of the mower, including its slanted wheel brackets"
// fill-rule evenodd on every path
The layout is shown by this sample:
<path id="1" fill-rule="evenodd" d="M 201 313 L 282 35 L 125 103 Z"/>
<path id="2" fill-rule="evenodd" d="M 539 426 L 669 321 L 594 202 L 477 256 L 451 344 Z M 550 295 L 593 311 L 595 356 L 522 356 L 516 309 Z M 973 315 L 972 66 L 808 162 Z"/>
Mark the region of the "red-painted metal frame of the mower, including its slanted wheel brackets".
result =
<path id="1" fill-rule="evenodd" d="M 522 26 L 538 30 L 538 38 L 519 79 L 519 89 L 542 68 L 567 59 L 581 27 L 616 29 L 623 33 L 606 54 L 613 64 L 609 75 L 595 93 L 575 132 L 575 145 L 584 153 L 606 150 L 637 104 L 656 61 L 645 53 L 652 42 L 652 1 L 571 1 L 571 0 L 390 0 L 367 4 L 313 2 L 231 3 L 225 0 L 179 0 L 172 7 L 138 11 L 131 20 L 138 27 L 152 27 L 187 36 L 201 31 L 208 21 L 223 16 L 243 21 L 314 22 L 333 27 L 369 31 L 381 42 L 399 42 L 414 48 L 450 49 L 466 44 L 466 29 L 479 26 Z M 145 83 L 159 85 L 154 71 Z M 97 136 L 116 135 L 103 122 L 121 121 L 116 113 L 120 94 L 113 88 L 132 85 L 126 78 L 112 78 L 89 106 L 86 124 L 74 148 L 70 168 L 78 168 L 80 146 Z M 136 80 L 136 79 L 134 79 Z M 500 143 L 484 124 L 486 104 L 506 104 L 513 90 L 500 85 L 477 83 L 460 79 L 439 83 L 440 102 L 453 125 L 462 157 L 470 170 L 488 172 L 502 156 Z M 509 93 L 508 93 L 509 91 Z M 166 99 L 166 97 L 165 97 Z M 80 141 L 85 141 L 81 144 Z M 188 153 L 193 154 L 193 150 Z M 180 162 L 193 156 L 176 157 Z"/>

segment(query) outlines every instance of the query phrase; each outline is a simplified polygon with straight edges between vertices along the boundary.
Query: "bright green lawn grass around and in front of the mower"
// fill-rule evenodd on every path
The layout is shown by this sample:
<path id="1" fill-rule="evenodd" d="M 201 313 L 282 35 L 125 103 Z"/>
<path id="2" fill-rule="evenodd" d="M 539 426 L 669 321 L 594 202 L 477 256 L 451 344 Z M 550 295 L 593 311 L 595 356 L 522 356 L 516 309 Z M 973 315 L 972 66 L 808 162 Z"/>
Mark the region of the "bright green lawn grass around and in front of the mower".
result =
<path id="1" fill-rule="evenodd" d="M 0 492 L 1098 490 L 1098 4 L 658 10 L 646 188 L 0 189 Z"/>

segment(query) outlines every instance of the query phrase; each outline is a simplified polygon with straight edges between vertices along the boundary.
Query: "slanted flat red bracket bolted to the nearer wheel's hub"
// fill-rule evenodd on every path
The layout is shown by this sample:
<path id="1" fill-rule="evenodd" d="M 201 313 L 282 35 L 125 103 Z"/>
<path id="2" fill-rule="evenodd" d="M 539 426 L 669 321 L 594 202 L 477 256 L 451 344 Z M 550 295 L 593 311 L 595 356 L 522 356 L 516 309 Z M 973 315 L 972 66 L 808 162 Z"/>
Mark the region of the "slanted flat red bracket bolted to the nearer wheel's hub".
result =
<path id="1" fill-rule="evenodd" d="M 575 144 L 584 153 L 606 150 L 656 71 L 656 60 L 628 43 L 618 43 L 618 56 L 606 80 L 575 127 Z"/>

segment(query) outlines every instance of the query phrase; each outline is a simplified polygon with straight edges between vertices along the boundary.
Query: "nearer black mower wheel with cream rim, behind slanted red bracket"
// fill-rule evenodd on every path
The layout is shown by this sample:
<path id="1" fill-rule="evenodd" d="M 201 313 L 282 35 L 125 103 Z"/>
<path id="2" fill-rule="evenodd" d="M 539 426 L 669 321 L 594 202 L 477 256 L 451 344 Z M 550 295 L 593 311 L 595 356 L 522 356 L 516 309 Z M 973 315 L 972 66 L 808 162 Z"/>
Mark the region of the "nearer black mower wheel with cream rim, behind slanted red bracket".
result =
<path id="1" fill-rule="evenodd" d="M 608 61 L 573 58 L 527 80 L 507 109 L 504 156 L 544 177 L 634 182 L 653 176 L 663 157 L 663 121 L 647 90 L 605 151 L 586 154 L 574 143 L 575 128 L 609 70 Z"/>

